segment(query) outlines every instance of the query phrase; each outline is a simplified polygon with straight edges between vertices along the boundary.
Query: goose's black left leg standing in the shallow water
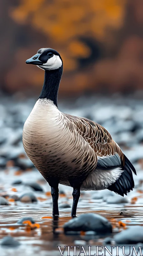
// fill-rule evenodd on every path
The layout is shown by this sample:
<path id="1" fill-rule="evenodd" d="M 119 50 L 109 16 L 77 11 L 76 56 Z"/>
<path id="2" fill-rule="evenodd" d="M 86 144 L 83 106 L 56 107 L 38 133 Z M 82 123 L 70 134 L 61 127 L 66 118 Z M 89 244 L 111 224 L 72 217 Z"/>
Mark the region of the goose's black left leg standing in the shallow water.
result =
<path id="1" fill-rule="evenodd" d="M 59 210 L 58 210 L 59 180 L 56 178 L 49 178 L 47 181 L 51 187 L 51 196 L 53 200 L 53 216 L 58 216 L 59 215 Z"/>

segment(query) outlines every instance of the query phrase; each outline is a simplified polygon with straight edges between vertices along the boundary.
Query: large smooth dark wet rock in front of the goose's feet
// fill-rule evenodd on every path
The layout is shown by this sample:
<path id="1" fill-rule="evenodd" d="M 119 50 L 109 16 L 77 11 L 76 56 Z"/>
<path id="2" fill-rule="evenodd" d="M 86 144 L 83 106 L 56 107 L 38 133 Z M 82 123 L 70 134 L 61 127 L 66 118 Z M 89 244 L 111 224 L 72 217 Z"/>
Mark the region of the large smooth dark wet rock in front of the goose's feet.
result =
<path id="1" fill-rule="evenodd" d="M 73 218 L 64 224 L 67 231 L 95 231 L 97 234 L 112 233 L 110 222 L 99 214 L 87 213 Z"/>

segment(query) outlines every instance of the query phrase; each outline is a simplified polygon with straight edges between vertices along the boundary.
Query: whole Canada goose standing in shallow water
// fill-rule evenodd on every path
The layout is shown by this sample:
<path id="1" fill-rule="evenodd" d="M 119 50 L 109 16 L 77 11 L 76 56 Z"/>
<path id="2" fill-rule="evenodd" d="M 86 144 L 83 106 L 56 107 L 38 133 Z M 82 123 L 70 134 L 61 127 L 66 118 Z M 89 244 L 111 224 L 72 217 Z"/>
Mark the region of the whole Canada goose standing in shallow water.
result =
<path id="1" fill-rule="evenodd" d="M 73 187 L 72 216 L 81 190 L 108 188 L 124 196 L 134 188 L 135 168 L 109 132 L 93 121 L 58 110 L 57 95 L 63 73 L 58 52 L 41 48 L 26 64 L 45 71 L 41 94 L 23 128 L 27 156 L 51 187 L 53 216 L 58 211 L 58 184 Z"/>

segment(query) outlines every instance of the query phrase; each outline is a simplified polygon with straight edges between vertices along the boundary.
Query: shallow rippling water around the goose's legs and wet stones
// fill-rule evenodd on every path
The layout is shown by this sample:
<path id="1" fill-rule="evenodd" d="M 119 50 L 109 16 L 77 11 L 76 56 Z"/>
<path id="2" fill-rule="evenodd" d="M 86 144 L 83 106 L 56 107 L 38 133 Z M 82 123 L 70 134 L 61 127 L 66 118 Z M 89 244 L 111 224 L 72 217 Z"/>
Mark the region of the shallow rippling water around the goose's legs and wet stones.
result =
<path id="1" fill-rule="evenodd" d="M 18 179 L 22 180 L 23 182 L 32 180 L 41 183 L 40 185 L 43 188 L 44 192 L 33 191 L 34 195 L 38 198 L 37 203 L 25 204 L 18 201 L 9 202 L 11 205 L 8 206 L 0 206 L 0 238 L 11 235 L 21 244 L 19 247 L 16 248 L 6 248 L 4 246 L 1 246 L 1 256 L 13 256 L 16 253 L 22 256 L 58 256 L 61 254 L 57 246 L 61 246 L 62 252 L 64 250 L 64 246 L 78 245 L 79 248 L 81 248 L 81 245 L 84 245 L 84 248 L 87 249 L 88 246 L 92 246 L 92 250 L 94 252 L 96 250 L 96 245 L 104 245 L 103 239 L 106 236 L 85 236 L 84 234 L 64 235 L 62 227 L 66 221 L 71 219 L 71 208 L 59 208 L 60 216 L 58 220 L 54 220 L 52 218 L 52 199 L 50 195 L 46 196 L 45 194 L 46 192 L 50 191 L 50 188 L 49 185 L 42 179 L 42 176 L 39 172 L 26 171 L 19 176 L 15 176 L 14 174 L 14 168 L 9 168 L 7 172 L 1 172 L 2 182 L 0 185 L 2 186 L 3 184 L 3 192 L 1 192 L 1 194 L 4 194 L 5 191 L 5 193 L 9 195 L 21 195 L 24 192 L 33 191 L 32 188 L 25 185 L 12 186 L 12 181 Z M 139 177 L 140 175 L 142 175 L 142 173 L 139 173 Z M 136 180 L 136 183 L 138 184 L 138 180 Z M 136 187 L 138 187 L 137 184 Z M 17 189 L 17 192 L 12 192 L 12 187 L 15 187 Z M 65 196 L 59 195 L 59 205 L 62 202 L 67 202 L 72 206 L 72 188 L 59 185 L 59 190 L 64 190 L 65 192 Z M 134 189 L 134 191 L 129 193 L 129 195 L 127 196 L 129 202 L 125 204 L 108 204 L 107 202 L 103 201 L 103 199 L 92 199 L 92 196 L 96 192 L 85 191 L 81 194 L 79 199 L 77 216 L 89 212 L 101 214 L 112 223 L 112 236 L 115 233 L 123 230 L 123 227 L 118 227 L 119 221 L 125 223 L 126 227 L 129 225 L 143 225 L 143 194 L 141 193 L 141 191 L 139 191 L 140 193 L 138 193 L 137 191 L 138 188 Z M 132 197 L 134 197 L 135 195 L 138 196 L 138 199 L 136 202 L 134 202 L 134 204 L 132 204 Z M 127 213 L 125 213 L 126 215 L 119 215 L 120 212 L 124 209 L 127 210 Z M 32 217 L 36 223 L 40 224 L 40 228 L 28 230 L 26 225 L 16 224 L 16 222 L 23 217 Z M 42 217 L 48 218 L 42 219 Z M 67 250 L 65 250 L 64 255 L 67 255 Z M 72 249 L 70 255 L 74 255 Z"/>

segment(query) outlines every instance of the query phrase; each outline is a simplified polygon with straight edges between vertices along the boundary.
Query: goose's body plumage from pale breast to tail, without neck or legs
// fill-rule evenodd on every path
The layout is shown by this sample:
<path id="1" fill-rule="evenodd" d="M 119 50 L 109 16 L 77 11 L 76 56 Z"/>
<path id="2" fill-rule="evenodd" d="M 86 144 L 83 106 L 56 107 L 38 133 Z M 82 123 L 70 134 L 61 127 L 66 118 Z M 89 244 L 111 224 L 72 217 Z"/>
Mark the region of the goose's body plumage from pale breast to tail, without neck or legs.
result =
<path id="1" fill-rule="evenodd" d="M 124 169 L 127 158 L 109 132 L 87 118 L 60 112 L 51 100 L 36 102 L 24 124 L 23 145 L 45 179 L 59 177 L 70 186 L 70 178 L 81 178 L 83 190 L 108 188 L 118 181 L 110 190 L 122 194 L 133 187 L 128 180 L 132 164 Z"/>

